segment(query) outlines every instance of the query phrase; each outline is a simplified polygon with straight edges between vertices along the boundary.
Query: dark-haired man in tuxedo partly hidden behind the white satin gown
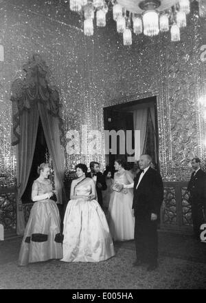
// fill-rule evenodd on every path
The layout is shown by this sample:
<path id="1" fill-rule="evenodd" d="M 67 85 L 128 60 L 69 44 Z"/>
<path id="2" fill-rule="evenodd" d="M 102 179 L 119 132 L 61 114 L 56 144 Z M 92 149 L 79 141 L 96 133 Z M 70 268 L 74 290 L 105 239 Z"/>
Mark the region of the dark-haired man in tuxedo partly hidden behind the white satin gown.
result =
<path id="1" fill-rule="evenodd" d="M 92 161 L 89 165 L 91 172 L 87 174 L 87 177 L 92 178 L 95 182 L 95 187 L 98 195 L 98 202 L 102 207 L 102 191 L 106 189 L 106 180 L 104 175 L 100 172 L 100 164 Z"/>

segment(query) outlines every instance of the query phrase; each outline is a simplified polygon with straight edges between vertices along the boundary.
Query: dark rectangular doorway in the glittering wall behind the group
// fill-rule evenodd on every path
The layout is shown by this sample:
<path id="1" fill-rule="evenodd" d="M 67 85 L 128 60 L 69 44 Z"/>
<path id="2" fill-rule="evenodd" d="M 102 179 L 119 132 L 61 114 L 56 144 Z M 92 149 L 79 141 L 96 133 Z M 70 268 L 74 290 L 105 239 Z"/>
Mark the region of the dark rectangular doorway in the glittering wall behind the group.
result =
<path id="1" fill-rule="evenodd" d="M 116 132 L 120 129 L 132 131 L 132 148 L 135 149 L 135 118 L 134 112 L 140 109 L 146 111 L 146 137 L 144 141 L 144 153 L 152 156 L 152 162 L 155 168 L 159 170 L 159 135 L 157 124 L 157 97 L 144 98 L 137 101 L 104 107 L 104 129 Z M 126 132 L 125 132 L 126 143 Z M 106 155 L 106 165 L 113 167 L 114 161 L 117 158 L 124 159 L 128 162 L 129 156 L 125 148 L 124 154 L 119 154 L 119 136 L 117 136 L 117 153 L 111 151 L 111 136 L 109 140 L 109 154 Z"/>

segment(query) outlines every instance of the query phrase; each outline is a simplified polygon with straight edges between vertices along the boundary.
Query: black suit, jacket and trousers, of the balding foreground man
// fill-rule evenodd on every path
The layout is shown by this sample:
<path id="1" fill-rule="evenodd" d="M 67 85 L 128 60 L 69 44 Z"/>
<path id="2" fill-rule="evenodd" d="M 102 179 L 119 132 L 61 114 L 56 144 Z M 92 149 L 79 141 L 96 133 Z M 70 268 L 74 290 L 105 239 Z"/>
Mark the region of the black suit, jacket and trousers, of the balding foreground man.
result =
<path id="1" fill-rule="evenodd" d="M 141 171 L 134 180 L 133 198 L 137 260 L 148 264 L 157 264 L 157 224 L 163 201 L 163 182 L 160 174 L 150 167 L 144 173 L 137 187 L 140 175 Z M 152 213 L 157 214 L 157 220 L 151 220 Z"/>

